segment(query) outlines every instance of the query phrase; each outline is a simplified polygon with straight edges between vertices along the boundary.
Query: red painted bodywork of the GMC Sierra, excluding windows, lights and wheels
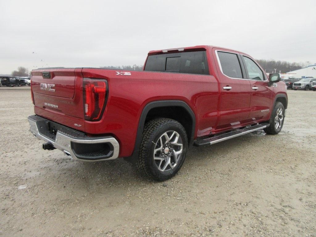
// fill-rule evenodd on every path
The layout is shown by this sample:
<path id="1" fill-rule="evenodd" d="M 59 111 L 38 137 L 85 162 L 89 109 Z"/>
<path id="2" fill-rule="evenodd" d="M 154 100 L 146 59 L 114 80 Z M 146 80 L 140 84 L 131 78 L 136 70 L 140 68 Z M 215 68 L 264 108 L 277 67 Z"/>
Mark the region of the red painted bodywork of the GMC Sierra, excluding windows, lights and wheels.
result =
<path id="1" fill-rule="evenodd" d="M 117 75 L 118 70 L 98 68 L 33 70 L 31 83 L 35 114 L 90 136 L 112 135 L 120 144 L 120 157 L 132 155 L 142 111 L 152 101 L 185 102 L 196 118 L 195 139 L 270 118 L 276 93 L 286 94 L 283 82 L 272 88 L 267 86 L 268 82 L 230 79 L 222 74 L 215 56 L 215 49 L 229 50 L 213 46 L 183 48 L 184 51 L 197 49 L 206 50 L 210 75 L 149 71 Z M 161 50 L 150 51 L 148 55 L 161 53 Z M 50 72 L 52 78 L 43 78 L 43 71 Z M 100 121 L 84 120 L 83 78 L 106 79 L 108 82 L 108 99 Z M 40 83 L 53 83 L 56 91 L 43 91 Z M 223 90 L 226 85 L 234 89 Z M 259 89 L 252 91 L 253 85 Z M 284 90 L 278 91 L 281 87 Z M 58 108 L 45 103 L 58 105 Z M 269 111 L 261 112 L 266 109 Z"/>

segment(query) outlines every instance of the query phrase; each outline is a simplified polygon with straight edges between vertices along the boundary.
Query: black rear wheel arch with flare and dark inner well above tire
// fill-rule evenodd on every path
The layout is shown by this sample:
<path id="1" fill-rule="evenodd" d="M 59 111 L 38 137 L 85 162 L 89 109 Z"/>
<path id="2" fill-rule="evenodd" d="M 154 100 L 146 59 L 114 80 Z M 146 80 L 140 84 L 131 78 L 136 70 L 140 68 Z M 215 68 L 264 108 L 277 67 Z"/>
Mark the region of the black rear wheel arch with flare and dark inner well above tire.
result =
<path id="1" fill-rule="evenodd" d="M 190 108 L 190 106 L 185 103 L 182 100 L 158 100 L 158 101 L 152 101 L 149 102 L 148 104 L 146 104 L 143 108 L 143 111 L 140 115 L 139 118 L 139 122 L 138 122 L 138 127 L 137 127 L 137 134 L 136 134 L 136 140 L 135 140 L 135 145 L 134 145 L 134 151 L 132 154 L 132 157 L 136 157 L 138 155 L 138 151 L 139 151 L 139 146 L 141 143 L 141 139 L 142 139 L 142 135 L 143 135 L 143 129 L 144 129 L 144 125 L 145 123 L 151 118 L 150 116 L 154 116 L 155 117 L 155 112 L 159 111 L 163 108 L 166 107 L 172 107 L 172 108 L 179 108 L 182 111 L 185 111 L 187 116 L 189 116 L 189 118 L 191 119 L 191 124 L 190 126 L 188 126 L 187 124 L 183 124 L 183 122 L 181 123 L 178 119 L 173 118 L 173 116 L 161 116 L 161 117 L 167 117 L 170 119 L 175 119 L 177 120 L 179 123 L 181 123 L 181 125 L 184 126 L 187 135 L 188 135 L 188 144 L 190 145 L 191 143 L 193 143 L 194 140 L 194 133 L 195 133 L 195 124 L 196 124 L 196 117 L 194 112 L 192 111 L 192 109 Z M 149 116 L 148 116 L 149 115 Z M 189 127 L 191 129 L 189 129 Z"/>

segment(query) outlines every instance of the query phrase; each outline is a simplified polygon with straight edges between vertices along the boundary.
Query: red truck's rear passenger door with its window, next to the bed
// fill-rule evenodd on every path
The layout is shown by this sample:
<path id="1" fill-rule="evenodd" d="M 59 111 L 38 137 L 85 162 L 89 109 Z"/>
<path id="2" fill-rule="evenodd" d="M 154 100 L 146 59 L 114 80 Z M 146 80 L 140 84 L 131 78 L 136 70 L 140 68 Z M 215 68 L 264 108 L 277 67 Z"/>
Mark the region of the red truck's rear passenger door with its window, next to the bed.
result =
<path id="1" fill-rule="evenodd" d="M 250 120 L 250 82 L 238 52 L 213 50 L 220 80 L 220 120 L 217 129 L 232 128 Z"/>

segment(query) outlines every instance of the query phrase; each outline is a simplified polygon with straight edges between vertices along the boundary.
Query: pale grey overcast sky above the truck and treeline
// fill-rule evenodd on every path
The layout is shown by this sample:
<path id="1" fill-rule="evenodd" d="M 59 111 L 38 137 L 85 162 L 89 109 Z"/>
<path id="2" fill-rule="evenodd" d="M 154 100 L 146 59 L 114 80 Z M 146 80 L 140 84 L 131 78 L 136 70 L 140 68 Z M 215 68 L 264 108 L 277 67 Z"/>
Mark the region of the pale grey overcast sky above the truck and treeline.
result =
<path id="1" fill-rule="evenodd" d="M 140 65 L 149 50 L 195 45 L 316 63 L 315 0 L 0 0 L 0 9 L 0 74 Z"/>

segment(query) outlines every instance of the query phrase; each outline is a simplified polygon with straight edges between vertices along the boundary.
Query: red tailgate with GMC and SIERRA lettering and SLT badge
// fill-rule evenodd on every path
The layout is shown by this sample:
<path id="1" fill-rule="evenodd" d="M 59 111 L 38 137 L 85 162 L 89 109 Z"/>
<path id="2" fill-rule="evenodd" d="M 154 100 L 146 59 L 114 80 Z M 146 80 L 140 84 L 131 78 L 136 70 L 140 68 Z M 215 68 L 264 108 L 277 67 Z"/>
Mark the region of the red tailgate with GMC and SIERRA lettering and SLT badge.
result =
<path id="1" fill-rule="evenodd" d="M 31 86 L 35 113 L 84 131 L 81 70 L 33 70 Z"/>

